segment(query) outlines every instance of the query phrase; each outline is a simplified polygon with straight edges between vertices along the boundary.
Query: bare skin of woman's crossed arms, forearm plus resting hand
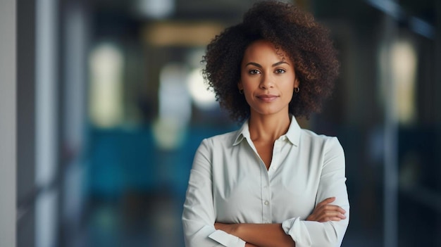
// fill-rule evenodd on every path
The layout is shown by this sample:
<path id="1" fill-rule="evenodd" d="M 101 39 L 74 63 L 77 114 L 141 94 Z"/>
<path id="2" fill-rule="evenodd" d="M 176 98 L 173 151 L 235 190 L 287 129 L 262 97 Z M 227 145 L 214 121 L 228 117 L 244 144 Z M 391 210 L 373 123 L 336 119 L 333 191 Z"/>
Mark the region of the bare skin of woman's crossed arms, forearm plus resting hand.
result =
<path id="1" fill-rule="evenodd" d="M 335 197 L 318 203 L 306 220 L 316 222 L 344 220 L 346 211 L 337 205 L 331 205 L 330 203 L 333 201 L 335 201 Z M 295 246 L 291 236 L 283 231 L 282 224 L 223 224 L 216 222 L 214 227 L 243 239 L 247 242 L 246 247 Z"/>

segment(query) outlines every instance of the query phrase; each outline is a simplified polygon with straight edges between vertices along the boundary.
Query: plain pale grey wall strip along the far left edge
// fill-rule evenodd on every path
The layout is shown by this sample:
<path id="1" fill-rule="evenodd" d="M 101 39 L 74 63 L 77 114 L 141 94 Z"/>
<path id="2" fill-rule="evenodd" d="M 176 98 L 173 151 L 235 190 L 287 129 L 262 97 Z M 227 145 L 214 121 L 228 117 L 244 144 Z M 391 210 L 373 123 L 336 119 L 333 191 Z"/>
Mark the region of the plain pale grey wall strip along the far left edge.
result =
<path id="1" fill-rule="evenodd" d="M 15 246 L 15 0 L 0 1 L 0 246 Z"/>

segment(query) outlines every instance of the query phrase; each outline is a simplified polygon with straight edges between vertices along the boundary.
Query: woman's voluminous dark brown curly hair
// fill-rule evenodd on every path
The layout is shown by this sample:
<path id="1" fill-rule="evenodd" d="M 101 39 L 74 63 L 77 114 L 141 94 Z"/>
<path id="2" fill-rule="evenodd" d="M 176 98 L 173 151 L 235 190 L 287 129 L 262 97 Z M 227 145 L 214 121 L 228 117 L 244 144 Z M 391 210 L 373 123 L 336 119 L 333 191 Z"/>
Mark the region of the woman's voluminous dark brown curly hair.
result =
<path id="1" fill-rule="evenodd" d="M 249 118 L 250 108 L 237 89 L 240 65 L 249 44 L 264 39 L 294 61 L 300 91 L 294 93 L 290 114 L 306 117 L 320 112 L 323 100 L 333 91 L 340 64 L 325 27 L 296 6 L 262 1 L 244 14 L 242 23 L 228 27 L 206 48 L 202 62 L 204 79 L 232 120 Z"/>

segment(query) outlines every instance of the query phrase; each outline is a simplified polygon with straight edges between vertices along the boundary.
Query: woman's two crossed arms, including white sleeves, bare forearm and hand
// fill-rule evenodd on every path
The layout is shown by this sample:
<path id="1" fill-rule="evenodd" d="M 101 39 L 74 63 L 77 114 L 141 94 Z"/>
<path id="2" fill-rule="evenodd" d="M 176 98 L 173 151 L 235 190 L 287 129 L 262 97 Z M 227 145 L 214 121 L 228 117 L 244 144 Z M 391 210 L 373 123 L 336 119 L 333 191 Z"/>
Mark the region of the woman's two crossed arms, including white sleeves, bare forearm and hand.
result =
<path id="1" fill-rule="evenodd" d="M 206 141 L 201 144 L 190 175 L 182 214 L 186 246 L 300 247 L 337 246 L 341 243 L 349 222 L 349 211 L 344 212 L 349 210 L 349 202 L 344 184 L 344 155 L 337 139 L 331 148 L 325 148 L 325 163 L 321 166 L 323 169 L 316 194 L 316 198 L 327 199 L 321 199 L 323 201 L 316 204 L 313 213 L 306 219 L 292 217 L 279 224 L 216 222 L 212 157 L 209 156 L 213 147 L 209 146 Z M 219 231 L 213 232 L 215 229 Z"/>

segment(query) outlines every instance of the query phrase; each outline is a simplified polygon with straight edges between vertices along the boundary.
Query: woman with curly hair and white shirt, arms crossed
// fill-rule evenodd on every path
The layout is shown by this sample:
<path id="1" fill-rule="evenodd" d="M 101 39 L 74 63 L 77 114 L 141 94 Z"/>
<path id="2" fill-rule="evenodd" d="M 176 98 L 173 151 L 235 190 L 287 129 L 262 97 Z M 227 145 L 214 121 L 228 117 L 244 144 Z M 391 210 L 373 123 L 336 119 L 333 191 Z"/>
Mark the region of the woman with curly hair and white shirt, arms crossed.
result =
<path id="1" fill-rule="evenodd" d="M 340 246 L 349 223 L 344 153 L 301 129 L 339 64 L 328 32 L 277 1 L 255 4 L 207 47 L 205 79 L 243 121 L 204 139 L 182 214 L 186 246 Z"/>

